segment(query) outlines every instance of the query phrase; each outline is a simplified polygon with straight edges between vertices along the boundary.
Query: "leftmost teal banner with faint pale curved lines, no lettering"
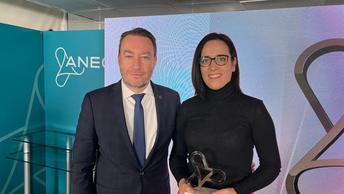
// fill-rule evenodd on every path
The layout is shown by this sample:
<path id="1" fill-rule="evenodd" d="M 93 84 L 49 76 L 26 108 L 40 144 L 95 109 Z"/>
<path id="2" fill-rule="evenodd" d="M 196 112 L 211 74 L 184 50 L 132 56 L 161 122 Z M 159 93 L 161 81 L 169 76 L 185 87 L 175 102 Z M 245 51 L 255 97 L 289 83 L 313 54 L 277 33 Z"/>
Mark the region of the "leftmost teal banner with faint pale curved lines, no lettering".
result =
<path id="1" fill-rule="evenodd" d="M 23 143 L 12 139 L 45 130 L 41 31 L 0 23 L 0 67 L 0 193 L 24 193 Z M 31 165 L 31 193 L 46 192 L 45 170 Z"/>

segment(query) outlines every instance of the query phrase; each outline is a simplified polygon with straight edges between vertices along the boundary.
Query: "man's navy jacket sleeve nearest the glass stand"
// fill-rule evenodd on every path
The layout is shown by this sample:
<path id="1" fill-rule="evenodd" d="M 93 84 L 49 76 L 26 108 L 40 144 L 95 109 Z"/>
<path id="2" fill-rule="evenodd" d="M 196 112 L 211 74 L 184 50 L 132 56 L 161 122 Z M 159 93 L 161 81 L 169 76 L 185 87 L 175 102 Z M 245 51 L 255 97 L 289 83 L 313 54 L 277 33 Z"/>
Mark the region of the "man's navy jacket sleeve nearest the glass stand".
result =
<path id="1" fill-rule="evenodd" d="M 95 193 L 93 168 L 96 162 L 98 138 L 89 94 L 85 95 L 76 127 L 71 162 L 73 194 Z"/>

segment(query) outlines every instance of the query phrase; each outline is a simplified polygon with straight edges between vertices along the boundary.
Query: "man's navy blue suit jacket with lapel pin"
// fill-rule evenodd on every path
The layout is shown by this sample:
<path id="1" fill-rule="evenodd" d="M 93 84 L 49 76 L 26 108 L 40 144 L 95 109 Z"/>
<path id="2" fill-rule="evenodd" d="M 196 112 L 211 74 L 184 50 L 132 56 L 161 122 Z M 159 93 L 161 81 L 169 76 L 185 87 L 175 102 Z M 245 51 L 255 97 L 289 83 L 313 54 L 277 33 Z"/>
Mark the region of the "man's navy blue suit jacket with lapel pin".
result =
<path id="1" fill-rule="evenodd" d="M 73 145 L 73 194 L 170 193 L 167 156 L 180 96 L 170 88 L 152 82 L 151 86 L 158 131 L 142 168 L 128 135 L 121 81 L 85 95 Z M 99 158 L 93 181 L 96 151 Z"/>

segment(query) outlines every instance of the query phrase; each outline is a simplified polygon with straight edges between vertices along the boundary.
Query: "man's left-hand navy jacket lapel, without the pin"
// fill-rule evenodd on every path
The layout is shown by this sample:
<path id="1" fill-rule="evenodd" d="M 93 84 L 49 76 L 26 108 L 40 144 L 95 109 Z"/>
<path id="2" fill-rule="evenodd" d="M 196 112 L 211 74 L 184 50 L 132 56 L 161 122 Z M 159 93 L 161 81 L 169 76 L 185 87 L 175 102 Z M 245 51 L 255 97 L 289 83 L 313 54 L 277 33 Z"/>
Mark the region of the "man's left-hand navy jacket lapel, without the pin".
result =
<path id="1" fill-rule="evenodd" d="M 124 115 L 124 109 L 123 109 L 123 98 L 122 98 L 122 85 L 121 80 L 119 80 L 113 87 L 114 92 L 112 93 L 112 102 L 114 105 L 114 113 L 115 113 L 115 119 L 116 124 L 118 125 L 119 133 L 121 134 L 123 138 L 123 142 L 128 148 L 129 153 L 132 155 L 132 157 L 137 161 L 136 154 L 134 152 L 134 148 L 131 144 L 130 137 L 128 134 L 128 128 L 126 123 L 126 118 Z M 140 167 L 139 163 L 136 162 L 138 167 Z M 140 167 L 141 168 L 141 167 Z"/>

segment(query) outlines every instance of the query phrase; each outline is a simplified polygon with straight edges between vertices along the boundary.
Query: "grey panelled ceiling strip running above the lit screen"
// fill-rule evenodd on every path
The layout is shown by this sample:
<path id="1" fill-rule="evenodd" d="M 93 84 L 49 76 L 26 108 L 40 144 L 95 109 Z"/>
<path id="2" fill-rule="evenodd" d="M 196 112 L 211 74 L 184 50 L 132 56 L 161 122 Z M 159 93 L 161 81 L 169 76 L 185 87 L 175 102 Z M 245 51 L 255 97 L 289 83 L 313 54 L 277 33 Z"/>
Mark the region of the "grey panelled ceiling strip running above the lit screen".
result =
<path id="1" fill-rule="evenodd" d="M 1 1 L 1 0 L 0 0 Z M 344 4 L 344 0 L 27 0 L 71 13 L 68 22 L 104 21 L 104 18 L 158 16 L 182 13 L 208 13 L 264 10 Z M 243 1 L 243 0 L 242 0 Z M 82 16 L 82 17 L 78 17 Z M 90 18 L 93 20 L 88 20 Z"/>

